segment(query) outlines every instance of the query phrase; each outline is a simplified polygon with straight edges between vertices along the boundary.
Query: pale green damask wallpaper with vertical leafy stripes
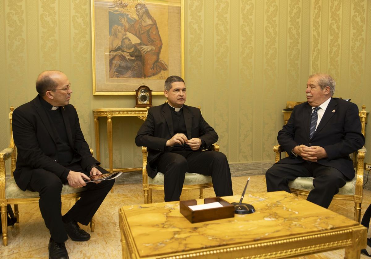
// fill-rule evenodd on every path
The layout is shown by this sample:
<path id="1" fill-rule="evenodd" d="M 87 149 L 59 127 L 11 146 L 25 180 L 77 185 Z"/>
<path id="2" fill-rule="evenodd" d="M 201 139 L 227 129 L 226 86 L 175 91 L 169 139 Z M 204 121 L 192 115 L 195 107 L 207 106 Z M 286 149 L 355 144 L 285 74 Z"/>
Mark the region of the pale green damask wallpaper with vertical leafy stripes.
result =
<path id="1" fill-rule="evenodd" d="M 282 109 L 305 101 L 311 73 L 330 73 L 336 97 L 371 110 L 370 1 L 185 0 L 184 7 L 187 104 L 201 106 L 230 162 L 273 160 Z M 134 96 L 92 95 L 90 1 L 3 0 L 0 30 L 0 149 L 9 143 L 10 105 L 36 96 L 43 70 L 68 75 L 71 103 L 94 150 L 92 109 L 134 106 Z M 154 105 L 164 100 L 153 97 Z M 141 166 L 134 144 L 141 120 L 114 118 L 113 125 L 114 166 Z M 108 166 L 102 119 L 100 133 Z M 367 138 L 365 146 L 371 150 Z"/>

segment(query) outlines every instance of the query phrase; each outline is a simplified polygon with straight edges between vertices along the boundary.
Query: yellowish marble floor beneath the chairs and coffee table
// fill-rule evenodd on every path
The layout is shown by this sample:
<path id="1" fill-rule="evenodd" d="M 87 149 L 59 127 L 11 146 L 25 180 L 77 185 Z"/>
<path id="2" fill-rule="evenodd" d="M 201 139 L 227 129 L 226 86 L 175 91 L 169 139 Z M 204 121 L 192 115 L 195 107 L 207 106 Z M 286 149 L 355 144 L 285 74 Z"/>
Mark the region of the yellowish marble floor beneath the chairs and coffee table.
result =
<path id="1" fill-rule="evenodd" d="M 248 192 L 266 191 L 264 175 L 250 176 Z M 232 177 L 233 192 L 241 194 L 247 181 L 247 176 Z M 205 197 L 215 196 L 214 191 L 209 188 L 204 191 Z M 181 199 L 198 198 L 197 190 L 183 191 Z M 162 202 L 164 195 L 162 191 L 153 191 L 153 201 Z M 73 200 L 64 201 L 62 213 L 68 211 Z M 114 193 L 109 193 L 95 214 L 95 232 L 91 233 L 88 226 L 81 226 L 91 234 L 87 242 L 66 241 L 69 258 L 122 258 L 120 232 L 118 226 L 118 209 L 124 205 L 143 203 L 141 184 L 117 184 L 114 186 Z M 371 203 L 371 191 L 364 190 L 362 203 L 362 215 L 367 206 Z M 333 201 L 329 207 L 350 219 L 353 219 L 354 203 L 345 201 Z M 0 244 L 0 258 L 48 258 L 49 232 L 46 229 L 40 215 L 38 204 L 19 205 L 20 222 L 13 227 L 8 227 L 8 246 Z M 300 259 L 323 259 L 323 258 L 344 258 L 344 249 L 315 255 L 301 256 Z M 367 258 L 361 255 L 361 258 Z"/>

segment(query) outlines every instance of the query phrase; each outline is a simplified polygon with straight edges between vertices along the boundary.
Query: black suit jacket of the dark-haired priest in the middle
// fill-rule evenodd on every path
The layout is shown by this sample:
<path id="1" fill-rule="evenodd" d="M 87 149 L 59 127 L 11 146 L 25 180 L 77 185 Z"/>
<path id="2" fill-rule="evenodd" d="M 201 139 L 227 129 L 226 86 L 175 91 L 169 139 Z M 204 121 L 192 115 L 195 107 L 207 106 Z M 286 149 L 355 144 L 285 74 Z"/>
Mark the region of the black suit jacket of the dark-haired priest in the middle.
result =
<path id="1" fill-rule="evenodd" d="M 183 115 L 187 128 L 187 138 L 200 138 L 204 146 L 210 148 L 218 140 L 218 135 L 204 120 L 200 109 L 183 105 Z M 135 144 L 138 147 L 148 148 L 147 172 L 154 178 L 157 174 L 155 161 L 162 152 L 170 152 L 171 147 L 166 147 L 166 141 L 174 136 L 173 118 L 168 104 L 151 107 L 148 110 L 147 120 L 139 128 Z"/>

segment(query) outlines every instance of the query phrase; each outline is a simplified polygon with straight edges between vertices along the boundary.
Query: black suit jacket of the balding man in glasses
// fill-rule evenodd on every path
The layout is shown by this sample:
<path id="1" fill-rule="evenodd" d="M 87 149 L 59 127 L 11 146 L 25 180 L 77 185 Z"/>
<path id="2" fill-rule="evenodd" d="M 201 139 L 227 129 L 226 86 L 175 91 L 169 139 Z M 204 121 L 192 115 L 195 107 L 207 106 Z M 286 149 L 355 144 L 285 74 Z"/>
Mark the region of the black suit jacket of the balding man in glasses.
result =
<path id="1" fill-rule="evenodd" d="M 23 191 L 31 178 L 31 170 L 42 168 L 62 178 L 67 168 L 58 163 L 56 136 L 39 95 L 13 112 L 13 138 L 18 150 L 14 179 Z M 70 146 L 81 156 L 81 168 L 100 163 L 92 157 L 81 132 L 79 117 L 69 104 L 62 109 Z M 65 179 L 64 179 L 65 180 Z"/>

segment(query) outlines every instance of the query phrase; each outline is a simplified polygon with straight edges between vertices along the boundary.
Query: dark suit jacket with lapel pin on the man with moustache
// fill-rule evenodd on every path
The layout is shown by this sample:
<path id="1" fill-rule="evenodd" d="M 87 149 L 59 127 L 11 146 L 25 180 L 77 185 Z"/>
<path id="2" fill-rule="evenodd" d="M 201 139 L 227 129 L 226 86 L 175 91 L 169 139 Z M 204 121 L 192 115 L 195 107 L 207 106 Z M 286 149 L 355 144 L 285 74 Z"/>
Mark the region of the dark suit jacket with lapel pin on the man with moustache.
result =
<path id="1" fill-rule="evenodd" d="M 304 160 L 291 151 L 296 145 L 320 146 L 326 150 L 327 158 L 318 163 L 338 169 L 349 179 L 354 178 L 354 169 L 349 154 L 362 148 L 365 138 L 361 133 L 358 107 L 352 102 L 331 98 L 326 111 L 311 139 L 309 124 L 312 107 L 304 102 L 294 107 L 287 124 L 278 132 L 278 143 L 289 157 L 278 163 L 298 164 Z"/>

